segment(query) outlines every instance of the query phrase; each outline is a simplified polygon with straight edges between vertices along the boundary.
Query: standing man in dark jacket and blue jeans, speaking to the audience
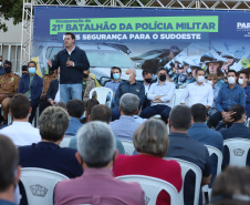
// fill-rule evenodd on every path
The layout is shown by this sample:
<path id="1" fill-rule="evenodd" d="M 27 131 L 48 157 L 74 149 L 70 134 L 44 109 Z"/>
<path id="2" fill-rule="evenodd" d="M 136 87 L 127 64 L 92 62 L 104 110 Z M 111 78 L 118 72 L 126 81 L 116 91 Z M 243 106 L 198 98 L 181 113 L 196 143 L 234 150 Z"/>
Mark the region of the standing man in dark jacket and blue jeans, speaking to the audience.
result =
<path id="1" fill-rule="evenodd" d="M 75 47 L 74 33 L 65 33 L 64 45 L 48 65 L 51 70 L 60 66 L 60 101 L 66 103 L 72 99 L 82 100 L 83 71 L 90 69 L 90 63 L 86 53 Z"/>

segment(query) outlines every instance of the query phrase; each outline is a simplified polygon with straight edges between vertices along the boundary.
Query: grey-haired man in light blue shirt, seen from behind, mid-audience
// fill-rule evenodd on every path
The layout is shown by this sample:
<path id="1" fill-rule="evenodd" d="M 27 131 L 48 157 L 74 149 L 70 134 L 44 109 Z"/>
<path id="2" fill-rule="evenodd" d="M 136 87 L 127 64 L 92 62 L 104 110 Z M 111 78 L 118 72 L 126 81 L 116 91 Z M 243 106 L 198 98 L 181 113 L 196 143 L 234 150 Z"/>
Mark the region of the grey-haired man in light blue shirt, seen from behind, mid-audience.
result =
<path id="1" fill-rule="evenodd" d="M 111 122 L 111 129 L 115 137 L 132 141 L 135 130 L 139 126 L 134 119 L 139 106 L 139 98 L 132 93 L 126 93 L 119 101 L 119 120 Z"/>

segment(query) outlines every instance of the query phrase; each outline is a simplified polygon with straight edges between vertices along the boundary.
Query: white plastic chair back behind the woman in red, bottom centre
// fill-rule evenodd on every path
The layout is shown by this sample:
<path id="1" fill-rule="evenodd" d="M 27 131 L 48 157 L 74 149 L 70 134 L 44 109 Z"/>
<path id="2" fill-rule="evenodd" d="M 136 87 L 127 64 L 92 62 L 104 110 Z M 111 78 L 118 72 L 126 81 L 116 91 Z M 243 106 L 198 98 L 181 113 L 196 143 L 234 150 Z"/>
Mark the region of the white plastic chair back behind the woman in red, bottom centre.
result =
<path id="1" fill-rule="evenodd" d="M 179 205 L 179 193 L 170 183 L 150 176 L 143 175 L 124 175 L 116 177 L 123 182 L 138 182 L 145 193 L 146 205 L 155 205 L 158 194 L 164 189 L 170 196 L 170 205 Z"/>

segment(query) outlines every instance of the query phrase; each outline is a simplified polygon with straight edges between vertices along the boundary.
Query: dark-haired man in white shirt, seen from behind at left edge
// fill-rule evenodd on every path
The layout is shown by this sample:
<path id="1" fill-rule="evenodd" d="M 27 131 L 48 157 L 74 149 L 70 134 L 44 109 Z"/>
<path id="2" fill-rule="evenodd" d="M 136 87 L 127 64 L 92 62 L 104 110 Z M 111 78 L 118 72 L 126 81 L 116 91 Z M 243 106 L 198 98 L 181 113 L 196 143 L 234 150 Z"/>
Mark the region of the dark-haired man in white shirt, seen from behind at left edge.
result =
<path id="1" fill-rule="evenodd" d="M 2 130 L 3 134 L 12 140 L 14 145 L 24 146 L 41 141 L 40 132 L 29 123 L 31 113 L 30 101 L 24 94 L 15 94 L 10 101 L 10 114 L 13 123 Z"/>

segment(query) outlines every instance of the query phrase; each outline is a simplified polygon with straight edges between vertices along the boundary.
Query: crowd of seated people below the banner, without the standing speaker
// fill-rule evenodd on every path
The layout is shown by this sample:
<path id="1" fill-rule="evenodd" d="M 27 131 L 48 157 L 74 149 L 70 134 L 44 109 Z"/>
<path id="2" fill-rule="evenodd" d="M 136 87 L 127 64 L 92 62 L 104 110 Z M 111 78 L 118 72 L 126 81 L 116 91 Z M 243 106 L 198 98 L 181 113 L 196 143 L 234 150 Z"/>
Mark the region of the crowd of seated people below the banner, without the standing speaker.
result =
<path id="1" fill-rule="evenodd" d="M 143 71 L 144 83 L 140 83 L 136 81 L 134 69 L 128 69 L 122 81 L 121 69 L 114 66 L 113 80 L 106 83 L 114 92 L 114 106 L 108 107 L 100 104 L 95 96 L 90 99 L 87 93 L 83 101 L 72 99 L 64 104 L 60 102 L 58 71 L 42 79 L 35 73 L 35 62 L 31 61 L 28 73 L 19 80 L 11 71 L 11 63 L 7 62 L 0 83 L 1 78 L 13 78 L 13 83 L 6 93 L 1 86 L 0 98 L 2 103 L 8 99 L 8 109 L 3 110 L 4 124 L 8 110 L 12 123 L 0 130 L 0 141 L 4 135 L 18 146 L 19 163 L 14 166 L 51 170 L 70 178 L 55 186 L 54 204 L 145 204 L 144 192 L 137 183 L 124 183 L 115 177 L 146 175 L 173 184 L 178 193 L 184 188 L 185 205 L 194 205 L 195 174 L 189 172 L 183 178 L 179 163 L 167 157 L 184 160 L 200 168 L 198 194 L 201 204 L 201 186 L 218 186 L 218 158 L 209 156 L 205 145 L 223 154 L 225 170 L 229 165 L 229 150 L 223 147 L 223 141 L 250 140 L 250 129 L 246 126 L 250 103 L 248 74 L 227 68 L 221 74 L 220 62 L 211 59 L 206 63 L 207 72 L 192 68 L 192 82 L 185 88 L 178 105 L 173 103 L 175 84 L 165 68 L 156 71 L 156 81 L 150 71 Z M 187 68 L 179 70 L 181 74 L 188 74 Z M 95 88 L 90 71 L 85 71 L 84 76 L 86 85 Z M 93 88 L 85 88 L 85 92 L 90 94 Z M 33 127 L 37 107 L 42 109 L 38 125 Z M 152 119 L 156 114 L 162 120 Z M 64 135 L 71 137 L 69 147 L 60 146 Z M 6 141 L 4 136 L 2 141 Z M 134 145 L 133 156 L 124 155 L 123 141 Z M 250 155 L 247 165 L 250 165 L 249 158 Z M 28 204 L 25 188 L 22 183 L 19 186 L 20 204 Z M 12 192 L 14 186 L 8 187 Z M 13 202 L 13 198 L 9 201 Z M 156 204 L 170 204 L 169 195 L 160 192 Z"/>

